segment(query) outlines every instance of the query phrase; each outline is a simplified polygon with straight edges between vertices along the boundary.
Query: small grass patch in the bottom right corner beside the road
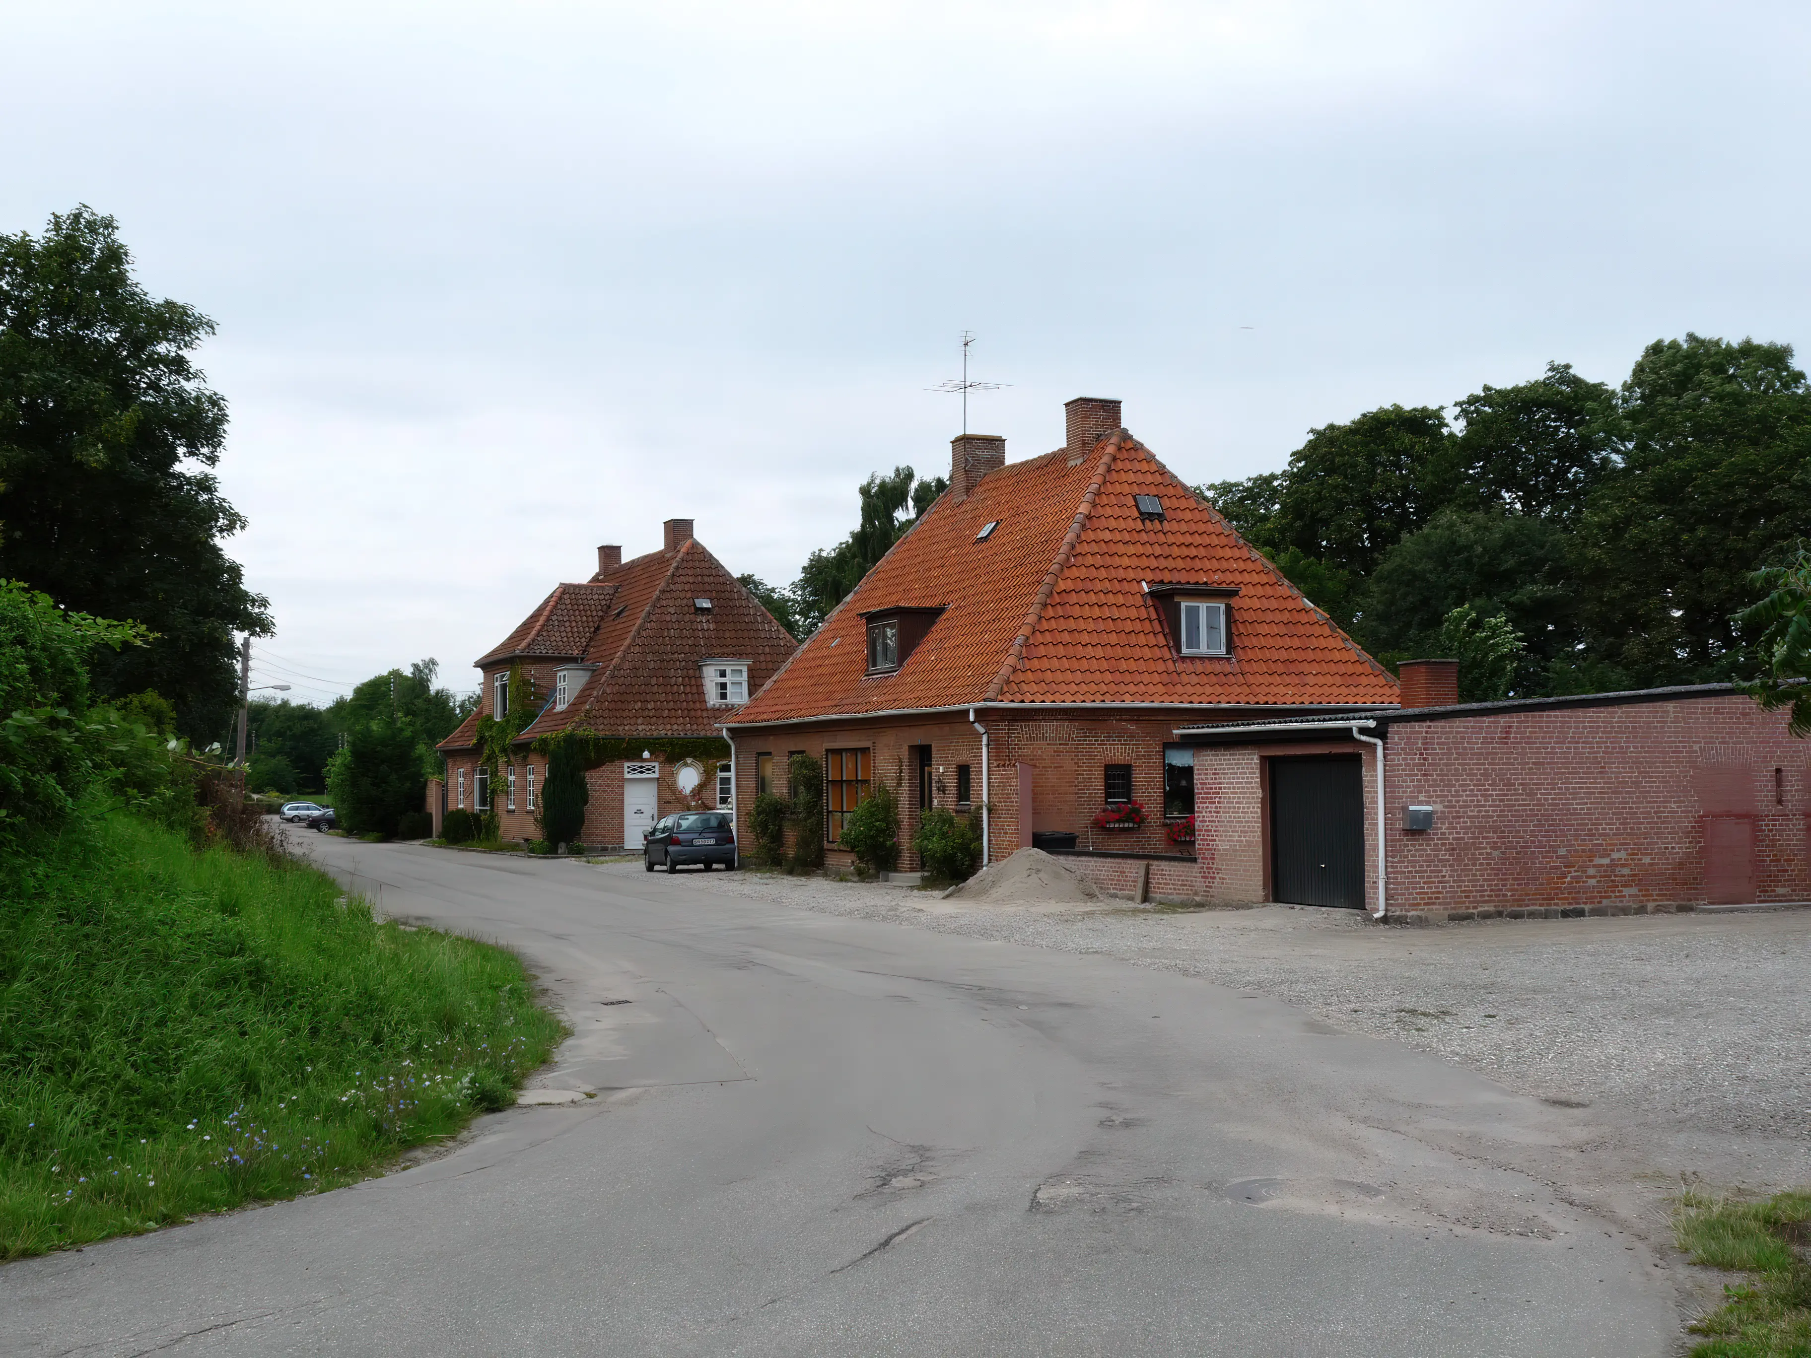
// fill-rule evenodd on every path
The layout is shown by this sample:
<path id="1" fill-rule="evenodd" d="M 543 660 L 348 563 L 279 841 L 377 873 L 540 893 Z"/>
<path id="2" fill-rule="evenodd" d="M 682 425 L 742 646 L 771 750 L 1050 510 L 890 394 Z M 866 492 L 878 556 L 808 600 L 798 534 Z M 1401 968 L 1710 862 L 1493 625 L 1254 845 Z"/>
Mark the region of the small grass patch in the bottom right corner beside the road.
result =
<path id="1" fill-rule="evenodd" d="M 1764 1202 L 1686 1193 L 1673 1228 L 1693 1264 L 1755 1277 L 1724 1287 L 1724 1304 L 1693 1322 L 1708 1338 L 1691 1358 L 1811 1356 L 1811 1191 Z"/>

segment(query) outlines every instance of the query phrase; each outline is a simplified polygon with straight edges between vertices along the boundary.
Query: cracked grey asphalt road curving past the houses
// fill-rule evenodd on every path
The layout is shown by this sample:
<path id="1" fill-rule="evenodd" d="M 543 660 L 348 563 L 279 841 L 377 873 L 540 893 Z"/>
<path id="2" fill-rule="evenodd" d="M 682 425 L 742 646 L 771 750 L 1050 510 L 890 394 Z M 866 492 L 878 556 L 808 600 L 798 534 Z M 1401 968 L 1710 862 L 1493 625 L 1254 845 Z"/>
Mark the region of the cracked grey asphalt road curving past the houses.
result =
<path id="1" fill-rule="evenodd" d="M 317 835 L 574 1027 L 451 1153 L 0 1269 L 5 1354 L 1666 1354 L 1588 1128 L 1096 956 Z M 621 1001 L 628 1003 L 603 1003 Z M 540 1097 L 558 1097 L 543 1094 Z"/>

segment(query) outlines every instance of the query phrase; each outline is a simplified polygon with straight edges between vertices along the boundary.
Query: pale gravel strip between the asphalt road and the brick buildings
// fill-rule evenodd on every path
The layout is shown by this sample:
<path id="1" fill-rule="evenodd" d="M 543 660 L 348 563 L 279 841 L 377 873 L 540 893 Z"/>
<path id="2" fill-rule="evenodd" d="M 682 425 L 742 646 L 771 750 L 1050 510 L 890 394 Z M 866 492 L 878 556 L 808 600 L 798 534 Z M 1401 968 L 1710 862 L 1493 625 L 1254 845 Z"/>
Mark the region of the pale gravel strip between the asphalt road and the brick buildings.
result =
<path id="1" fill-rule="evenodd" d="M 1617 1121 L 1650 1179 L 1811 1182 L 1811 911 L 1389 929 L 1288 905 L 963 905 L 748 869 L 685 885 L 1201 976 L 1561 1106 L 1634 1114 Z"/>

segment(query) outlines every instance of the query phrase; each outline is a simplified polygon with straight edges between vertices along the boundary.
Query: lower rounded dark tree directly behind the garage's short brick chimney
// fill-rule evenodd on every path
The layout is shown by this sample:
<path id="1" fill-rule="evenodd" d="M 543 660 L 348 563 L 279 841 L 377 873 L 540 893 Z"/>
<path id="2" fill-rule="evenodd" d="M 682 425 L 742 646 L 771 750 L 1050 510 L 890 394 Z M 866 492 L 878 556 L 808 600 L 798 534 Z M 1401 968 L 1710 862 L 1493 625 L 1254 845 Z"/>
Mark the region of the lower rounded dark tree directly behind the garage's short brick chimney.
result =
<path id="1" fill-rule="evenodd" d="M 1380 659 L 1433 654 L 1454 608 L 1507 616 L 1528 646 L 1514 692 L 1541 686 L 1577 645 L 1570 536 L 1528 514 L 1442 511 L 1398 541 L 1364 585 L 1358 637 Z"/>

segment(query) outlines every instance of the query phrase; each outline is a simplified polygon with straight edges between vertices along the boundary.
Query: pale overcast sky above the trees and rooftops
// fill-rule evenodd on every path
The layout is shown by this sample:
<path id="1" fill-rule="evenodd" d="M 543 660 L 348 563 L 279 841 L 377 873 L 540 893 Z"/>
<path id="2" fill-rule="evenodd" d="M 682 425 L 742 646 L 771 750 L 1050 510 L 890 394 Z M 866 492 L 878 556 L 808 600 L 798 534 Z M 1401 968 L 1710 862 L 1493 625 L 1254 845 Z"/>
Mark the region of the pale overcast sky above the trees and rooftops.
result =
<path id="1" fill-rule="evenodd" d="M 458 688 L 665 518 L 788 581 L 855 487 L 1119 397 L 1190 482 L 1548 359 L 1802 342 L 1804 4 L 5 0 L 0 230 L 214 317 L 261 675 Z M 306 677 L 299 677 L 306 675 Z M 308 684 L 304 688 L 304 684 Z"/>

